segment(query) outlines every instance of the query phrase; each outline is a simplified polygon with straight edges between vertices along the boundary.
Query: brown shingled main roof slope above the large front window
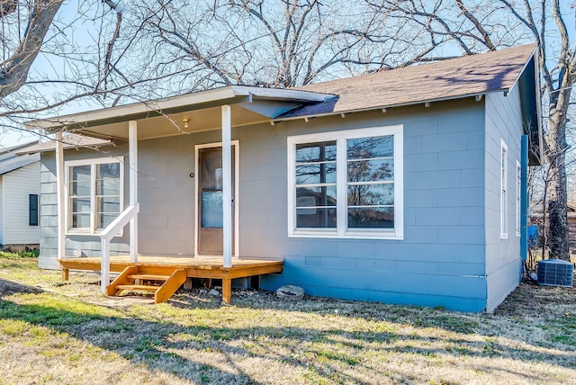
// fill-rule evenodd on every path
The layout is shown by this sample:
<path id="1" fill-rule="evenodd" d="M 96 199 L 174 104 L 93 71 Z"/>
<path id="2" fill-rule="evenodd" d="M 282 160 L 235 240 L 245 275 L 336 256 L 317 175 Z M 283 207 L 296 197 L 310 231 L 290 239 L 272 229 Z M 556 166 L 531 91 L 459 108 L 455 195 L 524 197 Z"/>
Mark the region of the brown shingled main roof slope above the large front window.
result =
<path id="1" fill-rule="evenodd" d="M 277 118 L 356 112 L 508 91 L 518 81 L 535 49 L 534 44 L 529 44 L 303 85 L 295 89 L 335 97 L 327 102 L 304 105 Z"/>

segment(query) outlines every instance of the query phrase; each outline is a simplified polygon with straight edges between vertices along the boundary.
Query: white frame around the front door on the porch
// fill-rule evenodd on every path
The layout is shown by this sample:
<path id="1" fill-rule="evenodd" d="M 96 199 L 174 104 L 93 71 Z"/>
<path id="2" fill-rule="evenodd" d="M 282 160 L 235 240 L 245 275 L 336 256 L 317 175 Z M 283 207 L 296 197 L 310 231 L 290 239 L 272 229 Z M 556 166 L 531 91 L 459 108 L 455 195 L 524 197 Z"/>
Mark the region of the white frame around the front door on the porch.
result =
<path id="1" fill-rule="evenodd" d="M 232 228 L 233 231 L 233 239 L 234 244 L 232 245 L 232 256 L 238 257 L 238 246 L 239 246 L 239 195 L 240 195 L 240 184 L 239 184 L 239 156 L 240 156 L 240 142 L 239 140 L 230 140 L 230 145 L 234 148 L 234 212 L 233 220 L 234 226 Z M 210 256 L 221 256 L 221 255 L 203 255 L 199 253 L 198 250 L 198 241 L 200 235 L 200 225 L 199 225 L 199 217 L 198 214 L 200 213 L 200 200 L 198 199 L 198 181 L 200 179 L 199 174 L 199 156 L 200 156 L 200 149 L 203 148 L 221 148 L 222 142 L 214 142 L 214 143 L 204 143 L 194 146 L 194 256 L 195 257 L 210 257 Z"/>

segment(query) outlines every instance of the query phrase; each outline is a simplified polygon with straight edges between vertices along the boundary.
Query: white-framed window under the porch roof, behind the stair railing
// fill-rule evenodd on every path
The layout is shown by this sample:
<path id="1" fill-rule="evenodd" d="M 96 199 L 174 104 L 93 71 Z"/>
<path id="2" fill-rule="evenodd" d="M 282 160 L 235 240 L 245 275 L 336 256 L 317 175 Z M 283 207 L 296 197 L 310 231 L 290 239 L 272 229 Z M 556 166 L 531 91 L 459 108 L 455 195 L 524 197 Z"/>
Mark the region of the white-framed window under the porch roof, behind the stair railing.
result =
<path id="1" fill-rule="evenodd" d="M 120 214 L 120 161 L 105 158 L 67 162 L 67 186 L 68 231 L 94 234 Z"/>

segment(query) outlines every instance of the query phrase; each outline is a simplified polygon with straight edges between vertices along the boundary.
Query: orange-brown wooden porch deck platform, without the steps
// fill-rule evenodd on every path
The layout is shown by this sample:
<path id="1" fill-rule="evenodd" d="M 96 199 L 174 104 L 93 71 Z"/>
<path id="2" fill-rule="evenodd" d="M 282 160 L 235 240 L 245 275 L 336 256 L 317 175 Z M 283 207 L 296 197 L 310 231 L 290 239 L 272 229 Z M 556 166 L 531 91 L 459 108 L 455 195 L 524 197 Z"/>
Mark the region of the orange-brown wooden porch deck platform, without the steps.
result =
<path id="1" fill-rule="evenodd" d="M 99 257 L 81 257 L 61 259 L 62 279 L 68 280 L 70 270 L 100 271 Z M 259 259 L 232 259 L 232 267 L 224 268 L 221 257 L 192 258 L 184 256 L 144 256 L 138 257 L 138 263 L 130 263 L 130 256 L 112 256 L 110 271 L 122 273 L 130 266 L 138 266 L 141 274 L 167 274 L 175 270 L 184 270 L 189 278 L 211 278 L 222 280 L 222 300 L 231 300 L 231 281 L 234 278 L 252 277 L 267 273 L 281 273 L 283 261 Z M 176 290 L 177 288 L 175 288 Z"/>

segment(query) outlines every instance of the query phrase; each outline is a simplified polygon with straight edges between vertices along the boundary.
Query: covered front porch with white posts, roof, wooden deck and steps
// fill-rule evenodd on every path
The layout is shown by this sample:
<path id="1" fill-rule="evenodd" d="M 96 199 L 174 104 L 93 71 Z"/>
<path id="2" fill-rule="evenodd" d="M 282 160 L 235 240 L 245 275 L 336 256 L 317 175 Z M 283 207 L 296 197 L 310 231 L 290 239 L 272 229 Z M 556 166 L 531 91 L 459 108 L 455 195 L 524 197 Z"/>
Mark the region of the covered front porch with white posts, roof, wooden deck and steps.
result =
<path id="1" fill-rule="evenodd" d="M 46 221 L 52 224 L 52 243 L 45 247 L 50 253 L 47 258 L 53 258 L 53 267 L 62 267 L 64 278 L 70 269 L 100 271 L 104 295 L 117 295 L 131 288 L 154 291 L 155 300 L 162 301 L 187 278 L 200 277 L 221 279 L 222 300 L 229 302 L 233 278 L 279 273 L 283 267 L 279 261 L 237 259 L 242 252 L 242 197 L 239 143 L 238 139 L 232 140 L 232 129 L 238 134 L 243 127 L 272 127 L 275 118 L 284 112 L 333 97 L 230 85 L 29 122 L 29 130 L 56 135 L 54 166 L 47 176 L 47 185 L 55 185 L 47 188 L 52 195 L 45 195 L 50 200 L 46 203 L 50 206 L 49 216 L 54 217 Z M 64 133 L 106 139 L 110 151 L 88 154 L 86 148 L 79 154 L 67 152 L 65 159 Z M 180 153 L 181 157 L 166 161 L 178 145 L 150 143 L 166 142 L 171 137 L 194 141 L 186 153 Z M 143 149 L 140 154 L 139 148 Z M 143 180 L 154 181 L 153 185 L 139 183 L 142 175 Z M 112 242 L 113 238 L 116 242 Z M 72 250 L 75 255 L 82 255 L 76 251 L 85 245 L 91 250 L 88 255 L 99 252 L 101 256 L 68 257 Z M 130 256 L 111 256 L 117 253 Z M 144 256 L 163 254 L 221 256 Z M 112 283 L 111 272 L 121 273 Z M 169 290 L 158 291 L 159 282 Z"/>

